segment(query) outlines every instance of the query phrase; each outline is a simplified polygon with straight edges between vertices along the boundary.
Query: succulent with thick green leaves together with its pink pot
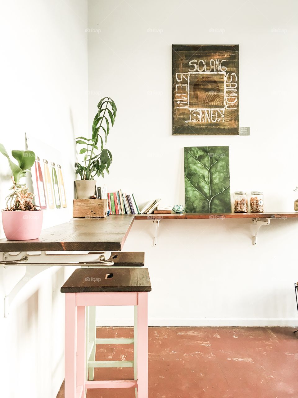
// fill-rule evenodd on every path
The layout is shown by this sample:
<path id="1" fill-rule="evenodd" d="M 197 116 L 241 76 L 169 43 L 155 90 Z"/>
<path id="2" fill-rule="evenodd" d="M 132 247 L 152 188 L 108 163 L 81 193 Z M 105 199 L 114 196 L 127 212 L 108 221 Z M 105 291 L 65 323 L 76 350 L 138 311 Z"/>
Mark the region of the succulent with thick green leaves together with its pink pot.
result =
<path id="1" fill-rule="evenodd" d="M 19 181 L 30 170 L 35 162 L 35 153 L 31 150 L 13 150 L 12 156 L 18 164 L 12 162 L 6 149 L 0 144 L 0 152 L 8 158 L 12 171 L 12 187 L 2 210 L 2 225 L 8 240 L 37 239 L 43 224 L 43 211 L 33 205 L 33 193 L 26 184 Z"/>

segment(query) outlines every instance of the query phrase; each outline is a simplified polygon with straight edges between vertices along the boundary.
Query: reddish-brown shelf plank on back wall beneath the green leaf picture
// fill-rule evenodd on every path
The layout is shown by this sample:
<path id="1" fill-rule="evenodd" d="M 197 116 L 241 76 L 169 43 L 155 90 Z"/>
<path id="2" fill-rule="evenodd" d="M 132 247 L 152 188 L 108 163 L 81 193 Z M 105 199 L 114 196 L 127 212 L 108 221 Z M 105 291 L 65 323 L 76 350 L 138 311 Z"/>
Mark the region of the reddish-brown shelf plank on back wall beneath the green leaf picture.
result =
<path id="1" fill-rule="evenodd" d="M 298 212 L 292 213 L 184 213 L 184 214 L 136 214 L 136 220 L 176 220 L 176 219 L 288 219 L 298 218 Z"/>

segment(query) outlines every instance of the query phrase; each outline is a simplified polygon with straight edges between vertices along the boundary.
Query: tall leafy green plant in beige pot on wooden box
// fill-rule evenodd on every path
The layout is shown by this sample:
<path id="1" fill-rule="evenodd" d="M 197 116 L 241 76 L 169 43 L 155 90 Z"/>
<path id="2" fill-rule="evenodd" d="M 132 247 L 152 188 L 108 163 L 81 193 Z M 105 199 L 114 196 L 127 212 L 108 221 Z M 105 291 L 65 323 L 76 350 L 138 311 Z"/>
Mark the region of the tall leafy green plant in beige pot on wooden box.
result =
<path id="1" fill-rule="evenodd" d="M 104 177 L 104 170 L 109 173 L 108 168 L 113 160 L 111 152 L 104 148 L 104 142 L 106 144 L 110 127 L 114 125 L 117 108 L 110 97 L 102 98 L 97 108 L 92 125 L 92 138 L 76 138 L 76 144 L 83 145 L 79 153 L 85 154 L 82 164 L 75 163 L 75 173 L 81 178 L 75 181 L 77 199 L 89 199 L 94 195 L 94 178 Z"/>

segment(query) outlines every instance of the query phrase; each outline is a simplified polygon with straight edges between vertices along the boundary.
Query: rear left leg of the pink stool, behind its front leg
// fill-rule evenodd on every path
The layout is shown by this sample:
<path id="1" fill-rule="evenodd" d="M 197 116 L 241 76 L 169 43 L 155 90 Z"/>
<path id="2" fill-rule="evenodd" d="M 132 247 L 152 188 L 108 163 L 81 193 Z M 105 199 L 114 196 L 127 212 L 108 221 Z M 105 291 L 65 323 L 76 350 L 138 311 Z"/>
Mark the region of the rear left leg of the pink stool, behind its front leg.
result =
<path id="1" fill-rule="evenodd" d="M 85 397 L 86 380 L 86 307 L 77 307 L 77 365 L 76 365 L 76 385 L 77 398 Z"/>

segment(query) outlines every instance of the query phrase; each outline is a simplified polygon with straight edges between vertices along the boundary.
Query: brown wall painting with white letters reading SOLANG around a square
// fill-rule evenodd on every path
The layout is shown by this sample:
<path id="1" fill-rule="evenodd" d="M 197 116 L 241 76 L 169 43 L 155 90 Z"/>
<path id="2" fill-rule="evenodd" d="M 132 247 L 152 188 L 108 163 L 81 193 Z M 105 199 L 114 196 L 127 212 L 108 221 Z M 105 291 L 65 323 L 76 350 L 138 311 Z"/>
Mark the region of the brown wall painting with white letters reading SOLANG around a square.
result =
<path id="1" fill-rule="evenodd" d="M 173 135 L 239 134 L 239 45 L 172 45 Z"/>

